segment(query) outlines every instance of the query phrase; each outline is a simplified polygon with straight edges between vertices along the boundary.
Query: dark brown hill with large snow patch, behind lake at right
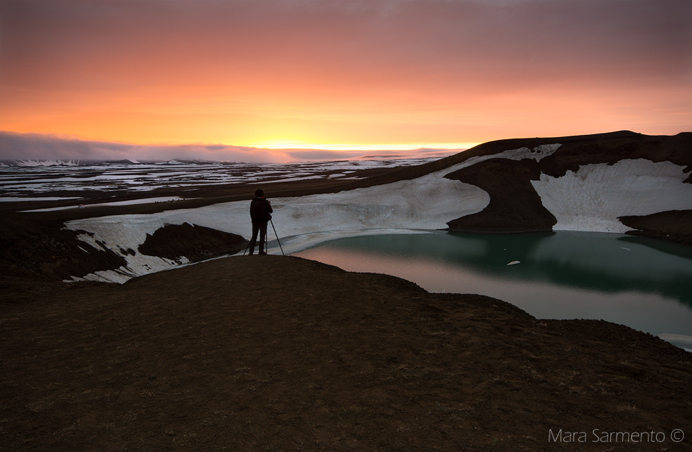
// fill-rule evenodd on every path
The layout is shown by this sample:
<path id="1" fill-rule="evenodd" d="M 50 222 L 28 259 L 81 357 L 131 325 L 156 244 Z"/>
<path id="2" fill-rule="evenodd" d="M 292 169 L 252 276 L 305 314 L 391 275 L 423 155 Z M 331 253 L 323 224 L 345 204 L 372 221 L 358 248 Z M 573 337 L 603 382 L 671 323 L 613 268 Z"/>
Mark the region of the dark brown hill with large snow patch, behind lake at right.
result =
<path id="1" fill-rule="evenodd" d="M 460 215 L 453 230 L 592 230 L 627 232 L 621 221 L 668 213 L 671 222 L 692 209 L 692 133 L 644 136 L 615 132 L 563 137 L 559 150 L 542 159 L 500 159 L 502 145 L 541 143 L 540 138 L 486 143 L 471 150 L 495 158 L 448 177 L 483 188 L 491 202 L 482 212 Z M 659 221 L 659 219 L 657 219 Z M 680 223 L 679 220 L 677 220 Z M 653 222 L 648 221 L 648 224 Z M 659 221 L 650 235 L 672 233 Z M 676 233 L 692 230 L 674 225 Z M 684 239 L 684 242 L 690 242 Z"/>

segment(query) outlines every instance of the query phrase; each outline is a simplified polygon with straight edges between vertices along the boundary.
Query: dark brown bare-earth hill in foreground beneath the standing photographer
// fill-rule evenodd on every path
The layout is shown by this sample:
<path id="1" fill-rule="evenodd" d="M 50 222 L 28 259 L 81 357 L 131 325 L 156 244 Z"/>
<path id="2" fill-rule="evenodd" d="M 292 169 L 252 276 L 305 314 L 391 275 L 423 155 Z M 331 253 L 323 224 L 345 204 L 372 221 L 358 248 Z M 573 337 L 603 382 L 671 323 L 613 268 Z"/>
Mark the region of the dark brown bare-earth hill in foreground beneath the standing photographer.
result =
<path id="1" fill-rule="evenodd" d="M 692 449 L 692 354 L 621 325 L 297 257 L 4 287 L 0 450 Z"/>

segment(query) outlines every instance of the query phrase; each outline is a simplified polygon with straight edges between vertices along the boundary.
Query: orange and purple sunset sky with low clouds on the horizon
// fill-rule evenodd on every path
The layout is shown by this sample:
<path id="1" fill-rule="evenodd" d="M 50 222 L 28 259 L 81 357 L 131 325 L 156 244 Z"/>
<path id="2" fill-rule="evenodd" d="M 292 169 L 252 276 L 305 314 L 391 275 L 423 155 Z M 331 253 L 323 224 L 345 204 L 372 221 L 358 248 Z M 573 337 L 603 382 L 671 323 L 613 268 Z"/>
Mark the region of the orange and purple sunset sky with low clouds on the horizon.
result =
<path id="1" fill-rule="evenodd" d="M 0 159 L 624 129 L 692 130 L 692 1 L 0 0 Z"/>

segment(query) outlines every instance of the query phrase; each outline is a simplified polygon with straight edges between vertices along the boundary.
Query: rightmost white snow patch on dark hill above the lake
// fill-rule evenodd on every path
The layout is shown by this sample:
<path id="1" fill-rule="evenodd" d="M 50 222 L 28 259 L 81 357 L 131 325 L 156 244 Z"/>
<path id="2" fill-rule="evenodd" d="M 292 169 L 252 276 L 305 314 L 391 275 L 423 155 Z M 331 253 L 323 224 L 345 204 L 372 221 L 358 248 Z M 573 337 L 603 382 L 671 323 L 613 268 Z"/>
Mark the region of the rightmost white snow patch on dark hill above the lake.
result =
<path id="1" fill-rule="evenodd" d="M 563 177 L 541 174 L 531 183 L 557 219 L 554 230 L 625 233 L 631 228 L 617 217 L 692 209 L 687 176 L 684 167 L 669 161 L 626 159 L 583 165 Z"/>

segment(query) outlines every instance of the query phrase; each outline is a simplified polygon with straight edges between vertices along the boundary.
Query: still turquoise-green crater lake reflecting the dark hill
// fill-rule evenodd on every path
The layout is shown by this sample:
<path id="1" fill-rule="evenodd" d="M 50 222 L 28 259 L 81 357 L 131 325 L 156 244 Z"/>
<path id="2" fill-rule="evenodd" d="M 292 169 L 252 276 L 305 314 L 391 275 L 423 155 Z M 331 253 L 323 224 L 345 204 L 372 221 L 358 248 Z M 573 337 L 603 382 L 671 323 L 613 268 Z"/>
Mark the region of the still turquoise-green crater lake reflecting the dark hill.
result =
<path id="1" fill-rule="evenodd" d="M 399 276 L 428 291 L 482 293 L 536 318 L 692 336 L 692 248 L 653 239 L 428 231 L 336 239 L 294 255 Z"/>

